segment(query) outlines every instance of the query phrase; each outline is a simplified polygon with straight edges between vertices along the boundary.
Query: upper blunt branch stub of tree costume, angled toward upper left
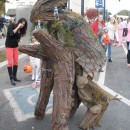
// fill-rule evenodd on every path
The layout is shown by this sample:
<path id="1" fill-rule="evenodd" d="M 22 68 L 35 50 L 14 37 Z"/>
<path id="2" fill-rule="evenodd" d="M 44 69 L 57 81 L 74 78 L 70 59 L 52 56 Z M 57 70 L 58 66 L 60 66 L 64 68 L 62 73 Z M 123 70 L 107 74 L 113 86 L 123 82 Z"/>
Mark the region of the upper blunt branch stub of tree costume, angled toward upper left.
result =
<path id="1" fill-rule="evenodd" d="M 34 31 L 33 35 L 37 41 L 40 42 L 46 55 L 53 61 L 57 61 L 58 58 L 62 55 L 63 50 L 67 50 L 65 47 L 59 44 L 56 39 L 54 39 L 51 35 L 42 29 Z"/>

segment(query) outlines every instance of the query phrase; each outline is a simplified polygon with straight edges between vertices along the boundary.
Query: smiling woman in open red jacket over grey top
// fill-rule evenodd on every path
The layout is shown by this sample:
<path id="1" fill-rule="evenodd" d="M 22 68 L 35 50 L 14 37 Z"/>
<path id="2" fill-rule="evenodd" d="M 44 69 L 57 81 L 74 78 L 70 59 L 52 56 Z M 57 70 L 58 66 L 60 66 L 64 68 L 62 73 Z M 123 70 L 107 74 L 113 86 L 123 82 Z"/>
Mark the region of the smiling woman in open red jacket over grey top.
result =
<path id="1" fill-rule="evenodd" d="M 105 24 L 103 22 L 103 16 L 101 14 L 98 15 L 97 19 L 93 22 L 91 27 L 94 34 L 97 36 L 100 44 L 102 45 L 102 47 L 104 47 L 104 43 L 102 42 L 102 39 L 99 36 L 99 34 L 103 32 L 103 28 L 105 27 Z M 103 72 L 102 67 L 99 69 L 99 72 Z"/>

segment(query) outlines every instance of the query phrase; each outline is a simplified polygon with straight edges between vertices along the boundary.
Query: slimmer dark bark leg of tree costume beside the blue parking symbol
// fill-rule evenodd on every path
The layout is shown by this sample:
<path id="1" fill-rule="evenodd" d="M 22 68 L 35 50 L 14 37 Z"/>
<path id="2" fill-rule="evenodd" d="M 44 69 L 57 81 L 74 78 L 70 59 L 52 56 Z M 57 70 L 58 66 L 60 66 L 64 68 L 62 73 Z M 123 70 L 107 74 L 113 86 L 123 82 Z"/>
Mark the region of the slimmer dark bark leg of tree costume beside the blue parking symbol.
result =
<path id="1" fill-rule="evenodd" d="M 54 73 L 50 61 L 42 61 L 41 65 L 41 87 L 34 115 L 38 119 L 44 118 L 46 107 L 54 85 Z"/>

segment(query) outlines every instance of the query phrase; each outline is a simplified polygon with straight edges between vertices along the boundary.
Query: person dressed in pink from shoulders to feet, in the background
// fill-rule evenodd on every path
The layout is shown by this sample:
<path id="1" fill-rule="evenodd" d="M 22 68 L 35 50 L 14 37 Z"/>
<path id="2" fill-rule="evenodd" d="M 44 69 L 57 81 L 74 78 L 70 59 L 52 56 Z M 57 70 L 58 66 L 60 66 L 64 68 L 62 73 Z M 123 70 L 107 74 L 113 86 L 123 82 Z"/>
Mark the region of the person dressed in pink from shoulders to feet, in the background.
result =
<path id="1" fill-rule="evenodd" d="M 119 35 L 119 47 L 121 47 L 122 46 L 122 37 L 123 37 L 123 19 L 122 18 L 120 18 L 119 19 L 120 20 L 120 23 L 119 23 L 119 25 L 118 25 L 118 35 Z"/>

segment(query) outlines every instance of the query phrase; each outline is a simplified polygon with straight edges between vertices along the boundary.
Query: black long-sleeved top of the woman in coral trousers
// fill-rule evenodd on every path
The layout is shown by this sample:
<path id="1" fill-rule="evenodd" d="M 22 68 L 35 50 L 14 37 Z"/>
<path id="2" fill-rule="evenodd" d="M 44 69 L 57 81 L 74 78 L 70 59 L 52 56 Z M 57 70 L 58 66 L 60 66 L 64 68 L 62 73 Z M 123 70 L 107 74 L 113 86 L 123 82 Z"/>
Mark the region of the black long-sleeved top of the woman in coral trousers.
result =
<path id="1" fill-rule="evenodd" d="M 20 41 L 21 34 L 16 32 L 14 34 L 13 30 L 16 28 L 16 25 L 14 23 L 10 24 L 8 27 L 5 47 L 8 48 L 16 48 L 18 47 L 18 42 Z"/>

